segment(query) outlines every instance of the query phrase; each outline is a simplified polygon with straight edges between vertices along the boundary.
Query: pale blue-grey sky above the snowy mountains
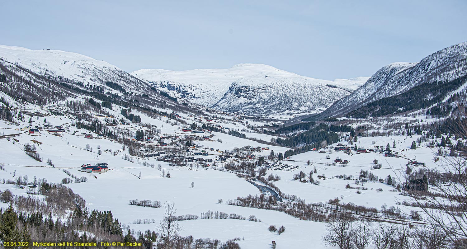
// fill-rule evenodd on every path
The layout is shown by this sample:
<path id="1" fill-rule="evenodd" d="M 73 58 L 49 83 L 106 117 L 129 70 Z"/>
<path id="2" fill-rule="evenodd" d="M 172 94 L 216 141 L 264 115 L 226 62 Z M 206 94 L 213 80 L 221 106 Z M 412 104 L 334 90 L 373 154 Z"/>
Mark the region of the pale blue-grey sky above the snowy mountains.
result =
<path id="1" fill-rule="evenodd" d="M 128 72 L 261 63 L 354 78 L 467 41 L 466 0 L 1 0 L 0 10 L 0 44 Z"/>

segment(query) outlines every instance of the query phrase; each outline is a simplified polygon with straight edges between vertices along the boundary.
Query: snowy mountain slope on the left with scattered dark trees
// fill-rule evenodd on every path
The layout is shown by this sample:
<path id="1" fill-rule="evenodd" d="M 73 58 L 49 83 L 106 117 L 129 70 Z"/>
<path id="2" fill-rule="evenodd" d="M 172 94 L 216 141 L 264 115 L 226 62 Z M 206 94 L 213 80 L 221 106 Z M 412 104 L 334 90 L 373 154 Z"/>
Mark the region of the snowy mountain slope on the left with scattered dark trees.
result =
<path id="1" fill-rule="evenodd" d="M 121 106 L 155 111 L 187 109 L 126 71 L 91 57 L 61 50 L 29 50 L 0 45 L 0 72 L 8 84 L 0 92 L 35 105 L 83 95 Z"/>

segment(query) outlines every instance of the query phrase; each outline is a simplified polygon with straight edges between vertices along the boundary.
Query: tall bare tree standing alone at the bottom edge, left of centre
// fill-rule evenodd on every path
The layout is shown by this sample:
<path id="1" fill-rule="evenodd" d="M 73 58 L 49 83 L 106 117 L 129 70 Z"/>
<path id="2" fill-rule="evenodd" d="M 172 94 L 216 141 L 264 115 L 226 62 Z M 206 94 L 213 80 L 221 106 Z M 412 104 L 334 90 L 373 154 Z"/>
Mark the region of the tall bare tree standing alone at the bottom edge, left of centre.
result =
<path id="1" fill-rule="evenodd" d="M 163 240 L 163 248 L 171 248 L 170 242 L 181 230 L 180 222 L 177 221 L 177 208 L 175 202 L 167 201 L 164 204 L 165 213 L 163 220 L 157 226 L 157 231 L 161 234 Z"/>

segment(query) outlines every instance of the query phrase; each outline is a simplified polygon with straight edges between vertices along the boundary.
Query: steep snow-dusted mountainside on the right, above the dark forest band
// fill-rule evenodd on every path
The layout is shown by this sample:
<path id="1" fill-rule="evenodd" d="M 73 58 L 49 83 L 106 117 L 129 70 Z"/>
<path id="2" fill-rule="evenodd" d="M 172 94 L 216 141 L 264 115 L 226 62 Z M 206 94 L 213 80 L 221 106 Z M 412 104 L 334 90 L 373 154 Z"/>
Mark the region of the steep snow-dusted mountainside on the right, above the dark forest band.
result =
<path id="1" fill-rule="evenodd" d="M 392 63 L 382 67 L 364 85 L 318 116 L 346 114 L 372 101 L 407 92 L 414 86 L 450 81 L 466 74 L 467 42 L 464 42 L 439 50 L 418 63 Z"/>

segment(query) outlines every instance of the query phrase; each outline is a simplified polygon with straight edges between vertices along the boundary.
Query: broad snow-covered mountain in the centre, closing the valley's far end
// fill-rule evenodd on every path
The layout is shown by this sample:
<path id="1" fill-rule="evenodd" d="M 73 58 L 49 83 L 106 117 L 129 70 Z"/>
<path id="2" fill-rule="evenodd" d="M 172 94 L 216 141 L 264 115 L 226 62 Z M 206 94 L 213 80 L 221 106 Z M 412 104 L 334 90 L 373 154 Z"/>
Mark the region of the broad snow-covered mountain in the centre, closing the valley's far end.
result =
<path id="1" fill-rule="evenodd" d="M 179 99 L 263 116 L 321 112 L 368 79 L 315 79 L 264 64 L 188 71 L 142 69 L 132 75 Z"/>

